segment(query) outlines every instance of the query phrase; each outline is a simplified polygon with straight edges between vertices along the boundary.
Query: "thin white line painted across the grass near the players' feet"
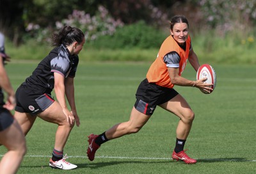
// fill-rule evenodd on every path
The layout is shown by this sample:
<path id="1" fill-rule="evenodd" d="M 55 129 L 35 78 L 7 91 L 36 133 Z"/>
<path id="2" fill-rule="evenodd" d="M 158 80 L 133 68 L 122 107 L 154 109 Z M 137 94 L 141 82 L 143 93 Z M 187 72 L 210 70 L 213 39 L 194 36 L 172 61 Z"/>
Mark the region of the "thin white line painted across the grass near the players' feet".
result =
<path id="1" fill-rule="evenodd" d="M 3 155 L 0 155 L 0 157 L 3 157 Z M 25 157 L 52 157 L 51 155 L 25 155 Z M 68 156 L 70 158 L 86 158 L 87 156 Z M 164 157 L 109 157 L 109 156 L 95 156 L 95 158 L 102 158 L 102 159 L 144 159 L 144 160 L 172 160 L 172 158 L 164 158 Z M 246 159 L 197 159 L 199 161 L 216 161 L 216 162 L 226 162 L 226 161 L 232 161 L 232 162 L 256 162 L 255 159 L 252 160 L 246 160 Z"/>

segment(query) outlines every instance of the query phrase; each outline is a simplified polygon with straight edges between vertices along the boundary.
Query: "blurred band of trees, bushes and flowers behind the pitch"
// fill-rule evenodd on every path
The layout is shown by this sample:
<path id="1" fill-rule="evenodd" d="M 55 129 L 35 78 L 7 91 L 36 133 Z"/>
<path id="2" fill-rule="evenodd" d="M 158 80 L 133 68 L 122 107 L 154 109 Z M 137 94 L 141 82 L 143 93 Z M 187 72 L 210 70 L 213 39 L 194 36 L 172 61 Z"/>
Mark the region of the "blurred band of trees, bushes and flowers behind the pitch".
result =
<path id="1" fill-rule="evenodd" d="M 53 32 L 70 25 L 84 31 L 91 49 L 157 50 L 177 14 L 188 18 L 201 56 L 232 57 L 230 52 L 241 50 L 235 54 L 249 54 L 243 59 L 255 63 L 255 0 L 0 0 L 0 31 L 19 48 L 42 49 Z"/>

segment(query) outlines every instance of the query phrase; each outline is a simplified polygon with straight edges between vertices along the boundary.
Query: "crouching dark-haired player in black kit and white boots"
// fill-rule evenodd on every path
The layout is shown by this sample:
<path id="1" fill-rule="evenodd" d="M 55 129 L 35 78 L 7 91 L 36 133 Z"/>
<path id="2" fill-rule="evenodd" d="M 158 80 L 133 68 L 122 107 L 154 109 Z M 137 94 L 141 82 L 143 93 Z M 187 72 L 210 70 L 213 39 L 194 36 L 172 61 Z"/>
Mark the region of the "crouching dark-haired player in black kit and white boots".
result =
<path id="1" fill-rule="evenodd" d="M 79 62 L 77 55 L 83 49 L 84 42 L 84 33 L 80 29 L 65 26 L 52 37 L 55 48 L 16 91 L 15 118 L 24 134 L 29 132 L 36 117 L 58 125 L 49 161 L 52 168 L 77 168 L 75 164 L 65 161 L 67 156 L 63 157 L 63 149 L 75 122 L 80 125 L 74 97 L 74 77 Z M 58 101 L 51 97 L 53 89 Z"/>

